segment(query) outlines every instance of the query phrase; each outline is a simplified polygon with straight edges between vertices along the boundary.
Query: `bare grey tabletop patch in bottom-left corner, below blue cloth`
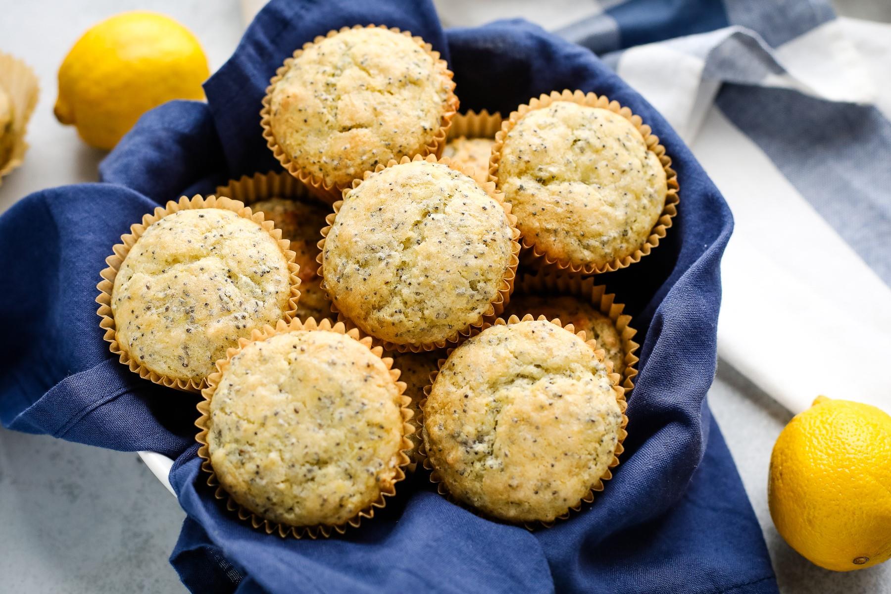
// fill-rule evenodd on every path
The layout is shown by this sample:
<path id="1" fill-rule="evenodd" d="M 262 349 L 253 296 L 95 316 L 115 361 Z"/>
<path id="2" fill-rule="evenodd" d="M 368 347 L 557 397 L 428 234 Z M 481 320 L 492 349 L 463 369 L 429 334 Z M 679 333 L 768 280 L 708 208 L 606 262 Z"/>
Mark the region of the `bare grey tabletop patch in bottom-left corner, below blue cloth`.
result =
<path id="1" fill-rule="evenodd" d="M 0 591 L 183 591 L 184 517 L 135 453 L 0 429 Z"/>

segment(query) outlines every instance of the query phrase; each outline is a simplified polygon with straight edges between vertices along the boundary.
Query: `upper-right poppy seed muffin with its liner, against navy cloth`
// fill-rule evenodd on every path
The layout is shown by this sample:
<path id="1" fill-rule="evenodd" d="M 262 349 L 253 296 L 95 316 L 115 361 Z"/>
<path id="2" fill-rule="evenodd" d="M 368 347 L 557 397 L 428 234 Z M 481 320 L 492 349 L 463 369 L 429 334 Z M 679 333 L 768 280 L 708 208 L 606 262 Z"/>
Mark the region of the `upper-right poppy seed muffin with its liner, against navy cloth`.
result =
<path id="1" fill-rule="evenodd" d="M 639 116 L 606 97 L 556 91 L 511 113 L 489 164 L 539 265 L 617 270 L 650 253 L 677 212 L 671 159 Z"/>

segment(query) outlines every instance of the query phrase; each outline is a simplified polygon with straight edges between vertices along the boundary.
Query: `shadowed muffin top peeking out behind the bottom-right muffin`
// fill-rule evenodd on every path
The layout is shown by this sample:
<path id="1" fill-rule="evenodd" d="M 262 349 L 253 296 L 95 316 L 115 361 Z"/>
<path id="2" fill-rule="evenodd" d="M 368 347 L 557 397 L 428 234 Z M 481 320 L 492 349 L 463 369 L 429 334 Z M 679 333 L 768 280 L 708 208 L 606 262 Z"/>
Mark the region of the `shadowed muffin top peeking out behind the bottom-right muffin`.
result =
<path id="1" fill-rule="evenodd" d="M 590 303 L 585 303 L 572 295 L 544 296 L 524 293 L 511 297 L 511 305 L 504 312 L 505 315 L 515 314 L 520 318 L 526 313 L 531 313 L 535 318 L 544 315 L 548 320 L 560 318 L 564 325 L 575 326 L 576 332 L 584 330 L 585 340 L 593 338 L 597 341 L 597 347 L 603 349 L 607 361 L 613 363 L 613 371 L 620 375 L 625 373 L 622 337 L 609 317 Z"/>

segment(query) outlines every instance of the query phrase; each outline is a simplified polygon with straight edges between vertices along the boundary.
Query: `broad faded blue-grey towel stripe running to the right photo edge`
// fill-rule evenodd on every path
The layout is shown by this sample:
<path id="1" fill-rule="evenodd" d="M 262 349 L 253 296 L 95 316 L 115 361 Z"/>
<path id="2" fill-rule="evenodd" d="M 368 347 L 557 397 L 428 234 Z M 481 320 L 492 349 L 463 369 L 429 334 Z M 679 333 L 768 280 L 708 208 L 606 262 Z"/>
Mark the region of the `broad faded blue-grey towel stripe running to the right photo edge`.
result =
<path id="1" fill-rule="evenodd" d="M 716 103 L 891 285 L 891 122 L 788 89 L 724 85 Z"/>

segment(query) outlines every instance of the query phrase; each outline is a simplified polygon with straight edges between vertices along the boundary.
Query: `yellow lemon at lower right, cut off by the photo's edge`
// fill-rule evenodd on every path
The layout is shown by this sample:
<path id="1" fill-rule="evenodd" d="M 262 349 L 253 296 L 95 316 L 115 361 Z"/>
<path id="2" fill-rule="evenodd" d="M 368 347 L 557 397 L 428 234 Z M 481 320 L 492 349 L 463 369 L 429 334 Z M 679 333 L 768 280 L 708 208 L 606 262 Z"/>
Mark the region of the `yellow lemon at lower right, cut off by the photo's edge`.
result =
<path id="1" fill-rule="evenodd" d="M 771 517 L 789 545 L 839 572 L 891 557 L 891 416 L 821 396 L 773 446 Z"/>

